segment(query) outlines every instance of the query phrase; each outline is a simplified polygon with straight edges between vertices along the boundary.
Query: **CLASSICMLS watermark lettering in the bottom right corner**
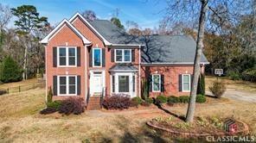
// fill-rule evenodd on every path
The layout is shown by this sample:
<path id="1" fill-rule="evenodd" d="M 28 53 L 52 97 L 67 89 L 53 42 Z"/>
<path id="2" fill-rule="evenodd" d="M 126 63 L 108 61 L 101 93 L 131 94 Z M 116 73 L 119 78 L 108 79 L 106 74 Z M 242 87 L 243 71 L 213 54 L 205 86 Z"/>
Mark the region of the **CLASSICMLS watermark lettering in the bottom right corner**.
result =
<path id="1" fill-rule="evenodd" d="M 206 140 L 209 142 L 254 142 L 256 138 L 254 136 L 207 136 Z"/>

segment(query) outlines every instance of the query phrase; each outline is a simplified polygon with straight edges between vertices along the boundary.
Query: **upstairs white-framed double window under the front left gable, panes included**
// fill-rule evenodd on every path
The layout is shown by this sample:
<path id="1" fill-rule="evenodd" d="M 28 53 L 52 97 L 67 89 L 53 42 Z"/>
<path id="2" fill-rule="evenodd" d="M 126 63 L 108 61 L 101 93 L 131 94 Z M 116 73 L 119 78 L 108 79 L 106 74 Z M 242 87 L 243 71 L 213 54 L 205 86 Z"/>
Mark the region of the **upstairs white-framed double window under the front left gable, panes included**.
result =
<path id="1" fill-rule="evenodd" d="M 57 50 L 58 66 L 76 66 L 77 48 L 76 47 L 58 47 Z"/>

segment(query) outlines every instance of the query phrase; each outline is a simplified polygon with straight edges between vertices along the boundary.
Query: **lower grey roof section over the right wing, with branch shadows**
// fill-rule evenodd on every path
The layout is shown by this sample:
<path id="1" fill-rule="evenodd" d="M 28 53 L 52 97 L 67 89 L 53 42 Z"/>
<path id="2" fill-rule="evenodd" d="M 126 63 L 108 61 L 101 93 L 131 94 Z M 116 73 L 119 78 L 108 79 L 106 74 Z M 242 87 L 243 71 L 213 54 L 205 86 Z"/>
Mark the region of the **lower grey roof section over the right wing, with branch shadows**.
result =
<path id="1" fill-rule="evenodd" d="M 194 64 L 195 40 L 188 35 L 150 35 L 140 36 L 140 42 L 146 47 L 142 50 L 143 64 Z M 202 64 L 208 64 L 208 59 L 202 54 Z"/>

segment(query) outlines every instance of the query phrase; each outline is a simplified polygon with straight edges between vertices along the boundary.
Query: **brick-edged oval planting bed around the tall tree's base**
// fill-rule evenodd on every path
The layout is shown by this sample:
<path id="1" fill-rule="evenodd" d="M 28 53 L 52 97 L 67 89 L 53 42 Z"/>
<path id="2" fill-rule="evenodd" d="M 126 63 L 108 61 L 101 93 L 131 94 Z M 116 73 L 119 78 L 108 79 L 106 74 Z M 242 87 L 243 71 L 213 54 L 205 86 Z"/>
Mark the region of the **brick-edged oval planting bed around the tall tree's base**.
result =
<path id="1" fill-rule="evenodd" d="M 147 125 L 167 134 L 181 135 L 187 137 L 205 137 L 208 135 L 221 136 L 229 135 L 224 128 L 224 122 L 230 118 L 218 117 L 195 117 L 193 123 L 187 123 L 179 118 L 170 116 L 167 118 L 157 117 L 148 121 Z M 249 128 L 246 123 L 234 120 L 237 125 L 237 131 L 234 134 L 248 134 Z"/>

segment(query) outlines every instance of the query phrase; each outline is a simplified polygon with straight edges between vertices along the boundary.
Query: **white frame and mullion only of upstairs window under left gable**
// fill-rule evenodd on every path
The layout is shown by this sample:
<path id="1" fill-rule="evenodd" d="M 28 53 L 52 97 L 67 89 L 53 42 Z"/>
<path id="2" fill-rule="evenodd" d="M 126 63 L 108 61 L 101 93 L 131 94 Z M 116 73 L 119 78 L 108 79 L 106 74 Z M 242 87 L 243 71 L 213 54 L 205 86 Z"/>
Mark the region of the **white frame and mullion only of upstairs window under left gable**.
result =
<path id="1" fill-rule="evenodd" d="M 66 65 L 60 65 L 60 48 L 66 48 Z M 74 48 L 74 65 L 69 65 L 69 48 Z M 77 47 L 57 47 L 57 67 L 77 67 Z"/>

